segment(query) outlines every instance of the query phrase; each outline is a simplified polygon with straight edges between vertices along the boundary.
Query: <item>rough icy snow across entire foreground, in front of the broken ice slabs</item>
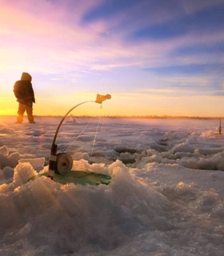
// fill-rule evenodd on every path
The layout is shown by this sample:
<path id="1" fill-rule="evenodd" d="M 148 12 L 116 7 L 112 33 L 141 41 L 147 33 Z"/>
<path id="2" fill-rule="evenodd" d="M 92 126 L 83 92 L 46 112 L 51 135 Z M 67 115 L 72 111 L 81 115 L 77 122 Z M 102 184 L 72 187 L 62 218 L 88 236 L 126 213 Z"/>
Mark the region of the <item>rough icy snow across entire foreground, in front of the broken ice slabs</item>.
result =
<path id="1" fill-rule="evenodd" d="M 13 182 L 0 186 L 1 254 L 222 255 L 223 172 L 191 170 L 186 178 L 178 164 L 136 170 L 119 160 L 74 166 L 101 170 L 112 182 L 27 182 L 38 172 L 28 162 L 15 167 Z"/>

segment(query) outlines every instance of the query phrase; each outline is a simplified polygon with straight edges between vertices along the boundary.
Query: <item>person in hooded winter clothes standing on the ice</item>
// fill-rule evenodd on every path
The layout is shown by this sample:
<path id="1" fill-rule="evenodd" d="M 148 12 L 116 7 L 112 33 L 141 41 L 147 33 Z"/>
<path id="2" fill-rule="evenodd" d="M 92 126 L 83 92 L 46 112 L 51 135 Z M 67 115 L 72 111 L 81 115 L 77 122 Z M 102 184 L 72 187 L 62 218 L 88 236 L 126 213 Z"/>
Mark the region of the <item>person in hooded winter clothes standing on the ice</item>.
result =
<path id="1" fill-rule="evenodd" d="M 14 95 L 18 101 L 18 117 L 16 123 L 22 123 L 23 114 L 26 111 L 30 123 L 34 122 L 33 103 L 35 103 L 34 90 L 30 74 L 23 72 L 21 80 L 14 84 Z"/>

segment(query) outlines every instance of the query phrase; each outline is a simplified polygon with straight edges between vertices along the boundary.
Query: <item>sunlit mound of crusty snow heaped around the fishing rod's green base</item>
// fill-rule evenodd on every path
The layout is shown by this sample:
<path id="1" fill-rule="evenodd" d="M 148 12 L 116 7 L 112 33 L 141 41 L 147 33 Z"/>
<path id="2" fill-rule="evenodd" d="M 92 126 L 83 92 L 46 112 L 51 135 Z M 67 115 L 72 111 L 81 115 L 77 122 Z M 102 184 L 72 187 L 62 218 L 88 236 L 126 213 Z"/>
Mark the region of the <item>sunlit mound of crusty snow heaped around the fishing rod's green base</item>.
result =
<path id="1" fill-rule="evenodd" d="M 46 177 L 26 182 L 36 172 L 30 163 L 19 163 L 13 182 L 0 186 L 0 202 L 5 205 L 0 252 L 110 254 L 142 230 L 170 229 L 172 224 L 163 216 L 170 203 L 161 193 L 120 161 L 105 169 L 113 178 L 110 186 L 62 186 Z"/>

